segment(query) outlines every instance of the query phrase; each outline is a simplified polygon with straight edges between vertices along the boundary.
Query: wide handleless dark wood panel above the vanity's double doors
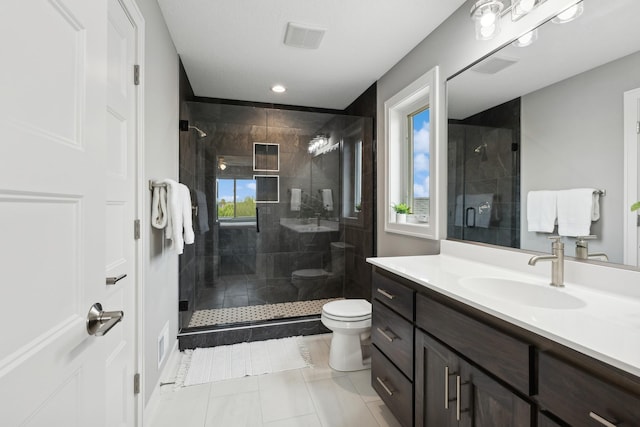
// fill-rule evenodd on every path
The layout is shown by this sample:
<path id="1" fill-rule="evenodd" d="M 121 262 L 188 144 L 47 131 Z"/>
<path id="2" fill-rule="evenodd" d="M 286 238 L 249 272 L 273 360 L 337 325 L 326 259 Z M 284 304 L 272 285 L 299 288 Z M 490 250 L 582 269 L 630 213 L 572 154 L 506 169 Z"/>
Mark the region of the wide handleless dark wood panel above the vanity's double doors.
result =
<path id="1" fill-rule="evenodd" d="M 436 302 L 416 298 L 416 325 L 525 394 L 531 394 L 530 344 Z"/>

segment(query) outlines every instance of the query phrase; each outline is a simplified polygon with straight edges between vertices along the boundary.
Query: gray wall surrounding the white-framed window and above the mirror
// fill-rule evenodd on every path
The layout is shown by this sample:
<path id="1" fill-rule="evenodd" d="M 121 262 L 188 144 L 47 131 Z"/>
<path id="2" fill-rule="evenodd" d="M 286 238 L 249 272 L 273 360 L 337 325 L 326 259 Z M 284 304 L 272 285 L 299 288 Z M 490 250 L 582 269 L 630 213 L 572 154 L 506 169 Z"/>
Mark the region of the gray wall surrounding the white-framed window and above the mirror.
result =
<path id="1" fill-rule="evenodd" d="M 537 24 L 557 13 L 563 6 L 568 6 L 571 0 L 548 0 L 515 23 L 510 22 L 509 19 L 503 19 L 501 33 L 490 41 L 475 40 L 473 22 L 469 18 L 469 11 L 474 3 L 475 0 L 469 0 L 462 5 L 433 33 L 378 80 L 378 117 L 384 117 L 384 102 L 387 99 L 434 66 L 440 66 L 440 74 L 443 79 L 446 79 L 468 64 L 491 53 L 517 36 L 528 32 Z M 383 150 L 383 139 L 385 138 L 384 121 L 379 120 L 377 126 L 377 134 L 379 136 L 376 159 L 378 164 L 377 188 L 379 191 L 377 209 L 378 212 L 383 212 L 383 209 L 389 209 L 388 206 L 384 206 L 382 194 L 386 188 L 385 181 L 387 179 L 384 172 L 386 161 Z M 446 149 L 446 131 L 442 132 L 438 144 Z M 440 250 L 440 245 L 437 241 L 385 232 L 384 224 L 381 220 L 377 224 L 377 235 L 378 256 L 432 254 Z"/>

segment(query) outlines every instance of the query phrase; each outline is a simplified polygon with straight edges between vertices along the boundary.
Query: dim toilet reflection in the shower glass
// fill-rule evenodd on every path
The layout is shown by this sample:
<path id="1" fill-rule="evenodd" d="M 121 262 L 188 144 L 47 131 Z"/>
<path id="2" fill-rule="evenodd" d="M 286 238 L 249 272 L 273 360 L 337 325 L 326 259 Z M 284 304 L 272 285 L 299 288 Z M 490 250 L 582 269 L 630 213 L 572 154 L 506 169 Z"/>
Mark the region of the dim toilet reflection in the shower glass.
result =
<path id="1" fill-rule="evenodd" d="M 344 276 L 345 250 L 353 248 L 344 242 L 331 242 L 331 268 L 306 268 L 291 273 L 291 284 L 298 289 L 298 300 L 319 299 L 335 296 L 324 289 L 329 282 L 339 282 Z M 334 286 L 335 287 L 335 286 Z"/>

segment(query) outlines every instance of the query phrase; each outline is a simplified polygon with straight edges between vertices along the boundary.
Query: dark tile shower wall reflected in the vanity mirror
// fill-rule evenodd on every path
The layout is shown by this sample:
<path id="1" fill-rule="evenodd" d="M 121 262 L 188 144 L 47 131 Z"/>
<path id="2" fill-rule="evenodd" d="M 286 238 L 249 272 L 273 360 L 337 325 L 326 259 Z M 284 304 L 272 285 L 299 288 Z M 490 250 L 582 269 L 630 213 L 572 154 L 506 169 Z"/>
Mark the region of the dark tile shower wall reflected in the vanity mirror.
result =
<path id="1" fill-rule="evenodd" d="M 465 120 L 451 120 L 448 133 L 448 235 L 519 247 L 520 98 Z M 464 224 L 467 205 L 460 201 L 477 194 L 494 195 L 486 228 Z"/>

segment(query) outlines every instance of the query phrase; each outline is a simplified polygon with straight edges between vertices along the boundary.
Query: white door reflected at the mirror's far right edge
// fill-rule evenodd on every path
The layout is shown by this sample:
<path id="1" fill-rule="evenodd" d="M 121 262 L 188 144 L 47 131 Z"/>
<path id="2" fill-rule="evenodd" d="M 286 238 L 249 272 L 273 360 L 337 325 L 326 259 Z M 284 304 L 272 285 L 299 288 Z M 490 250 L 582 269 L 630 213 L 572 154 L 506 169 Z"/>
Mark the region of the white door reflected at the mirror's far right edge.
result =
<path id="1" fill-rule="evenodd" d="M 640 201 L 640 88 L 624 93 L 624 263 L 640 267 L 638 213 Z"/>

